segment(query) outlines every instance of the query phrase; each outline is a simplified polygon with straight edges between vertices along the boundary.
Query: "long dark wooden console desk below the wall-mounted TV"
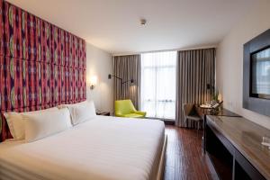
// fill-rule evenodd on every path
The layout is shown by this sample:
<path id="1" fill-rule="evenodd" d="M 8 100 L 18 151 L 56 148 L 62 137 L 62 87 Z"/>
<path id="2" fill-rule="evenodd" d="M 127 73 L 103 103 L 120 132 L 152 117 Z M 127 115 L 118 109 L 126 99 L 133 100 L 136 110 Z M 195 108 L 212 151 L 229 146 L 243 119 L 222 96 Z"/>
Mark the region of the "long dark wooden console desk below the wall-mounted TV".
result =
<path id="1" fill-rule="evenodd" d="M 270 179 L 270 149 L 261 145 L 270 130 L 242 117 L 207 116 L 206 156 L 220 179 Z"/>

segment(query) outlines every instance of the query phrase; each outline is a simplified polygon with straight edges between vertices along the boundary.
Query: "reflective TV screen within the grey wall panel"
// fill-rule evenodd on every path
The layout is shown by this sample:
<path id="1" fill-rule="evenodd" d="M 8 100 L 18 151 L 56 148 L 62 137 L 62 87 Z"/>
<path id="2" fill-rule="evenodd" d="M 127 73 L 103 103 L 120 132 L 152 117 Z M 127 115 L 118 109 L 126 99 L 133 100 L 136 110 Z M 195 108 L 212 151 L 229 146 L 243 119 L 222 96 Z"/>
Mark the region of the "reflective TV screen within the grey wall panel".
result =
<path id="1" fill-rule="evenodd" d="M 251 96 L 270 99 L 270 48 L 251 55 Z"/>

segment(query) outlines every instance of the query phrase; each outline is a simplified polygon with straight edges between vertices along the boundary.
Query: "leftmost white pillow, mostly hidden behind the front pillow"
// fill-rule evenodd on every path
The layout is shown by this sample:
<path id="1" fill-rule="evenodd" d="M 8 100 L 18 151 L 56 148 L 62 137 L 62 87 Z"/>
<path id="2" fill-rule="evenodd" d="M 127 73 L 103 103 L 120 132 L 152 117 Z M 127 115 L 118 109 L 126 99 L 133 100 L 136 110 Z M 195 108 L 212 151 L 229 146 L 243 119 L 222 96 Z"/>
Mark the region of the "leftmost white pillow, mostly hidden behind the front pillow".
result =
<path id="1" fill-rule="evenodd" d="M 25 129 L 22 115 L 28 115 L 32 113 L 41 113 L 49 111 L 57 111 L 57 107 L 52 107 L 45 110 L 34 111 L 34 112 L 4 112 L 4 117 L 7 121 L 7 125 L 11 134 L 15 140 L 20 140 L 25 138 Z"/>

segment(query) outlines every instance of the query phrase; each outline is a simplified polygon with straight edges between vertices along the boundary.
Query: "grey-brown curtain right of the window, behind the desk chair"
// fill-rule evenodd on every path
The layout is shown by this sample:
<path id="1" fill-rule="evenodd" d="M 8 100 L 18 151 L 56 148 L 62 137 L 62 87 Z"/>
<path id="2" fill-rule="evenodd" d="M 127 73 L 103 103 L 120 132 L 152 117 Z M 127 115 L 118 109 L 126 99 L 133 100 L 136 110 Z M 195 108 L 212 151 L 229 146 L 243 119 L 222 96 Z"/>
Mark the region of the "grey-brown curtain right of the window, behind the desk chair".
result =
<path id="1" fill-rule="evenodd" d="M 175 125 L 194 128 L 188 121 L 184 124 L 183 103 L 201 104 L 211 100 L 207 84 L 215 85 L 215 49 L 178 51 L 176 66 L 176 118 Z"/>

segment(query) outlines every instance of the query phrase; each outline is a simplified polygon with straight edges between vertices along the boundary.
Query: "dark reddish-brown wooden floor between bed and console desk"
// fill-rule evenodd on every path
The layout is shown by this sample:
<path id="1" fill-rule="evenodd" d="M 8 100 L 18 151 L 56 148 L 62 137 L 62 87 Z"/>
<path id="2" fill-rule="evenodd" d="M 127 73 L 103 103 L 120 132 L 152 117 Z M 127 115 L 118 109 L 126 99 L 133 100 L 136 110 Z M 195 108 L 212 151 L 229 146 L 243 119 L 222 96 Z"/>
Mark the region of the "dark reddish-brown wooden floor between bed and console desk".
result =
<path id="1" fill-rule="evenodd" d="M 202 154 L 202 130 L 166 125 L 167 148 L 164 180 L 212 179 Z"/>

